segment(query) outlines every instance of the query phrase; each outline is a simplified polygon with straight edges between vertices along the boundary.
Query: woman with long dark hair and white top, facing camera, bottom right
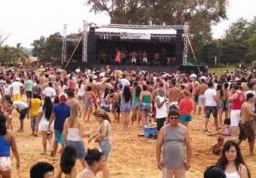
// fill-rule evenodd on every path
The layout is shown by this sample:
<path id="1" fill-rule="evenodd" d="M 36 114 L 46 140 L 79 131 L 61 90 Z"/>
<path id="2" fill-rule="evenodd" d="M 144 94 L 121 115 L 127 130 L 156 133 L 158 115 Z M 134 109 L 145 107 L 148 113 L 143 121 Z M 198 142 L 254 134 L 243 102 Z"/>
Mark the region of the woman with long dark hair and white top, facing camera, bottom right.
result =
<path id="1" fill-rule="evenodd" d="M 217 164 L 225 170 L 227 178 L 251 178 L 251 174 L 242 158 L 241 149 L 233 140 L 227 140 Z"/>

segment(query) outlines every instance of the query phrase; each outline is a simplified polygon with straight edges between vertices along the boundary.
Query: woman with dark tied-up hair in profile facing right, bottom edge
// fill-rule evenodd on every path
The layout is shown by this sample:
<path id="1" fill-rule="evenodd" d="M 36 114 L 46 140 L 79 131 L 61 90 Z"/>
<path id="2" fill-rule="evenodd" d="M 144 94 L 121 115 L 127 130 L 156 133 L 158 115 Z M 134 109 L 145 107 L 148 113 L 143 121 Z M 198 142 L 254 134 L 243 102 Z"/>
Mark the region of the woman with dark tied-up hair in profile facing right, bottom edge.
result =
<path id="1" fill-rule="evenodd" d="M 96 173 L 105 167 L 105 155 L 101 149 L 88 149 L 85 156 L 87 167 L 81 173 L 80 178 L 96 178 Z"/>

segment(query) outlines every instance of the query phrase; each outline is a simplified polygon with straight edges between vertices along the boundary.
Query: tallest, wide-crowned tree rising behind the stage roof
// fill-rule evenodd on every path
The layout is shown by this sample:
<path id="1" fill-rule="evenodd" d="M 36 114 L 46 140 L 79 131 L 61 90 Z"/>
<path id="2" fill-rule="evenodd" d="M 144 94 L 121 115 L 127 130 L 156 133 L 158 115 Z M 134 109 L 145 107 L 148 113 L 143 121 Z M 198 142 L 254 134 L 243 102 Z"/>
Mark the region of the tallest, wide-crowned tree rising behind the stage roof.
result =
<path id="1" fill-rule="evenodd" d="M 212 40 L 211 26 L 227 19 L 227 0 L 87 0 L 91 11 L 105 13 L 111 23 L 183 25 L 190 23 L 200 49 Z"/>

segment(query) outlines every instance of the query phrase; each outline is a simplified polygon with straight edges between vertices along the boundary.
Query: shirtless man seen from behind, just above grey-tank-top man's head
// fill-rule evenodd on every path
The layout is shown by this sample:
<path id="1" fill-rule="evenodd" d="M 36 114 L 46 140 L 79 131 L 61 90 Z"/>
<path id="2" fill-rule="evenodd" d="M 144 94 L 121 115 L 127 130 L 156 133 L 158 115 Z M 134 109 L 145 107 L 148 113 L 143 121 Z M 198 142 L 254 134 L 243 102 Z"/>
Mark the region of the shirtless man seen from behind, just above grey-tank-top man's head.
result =
<path id="1" fill-rule="evenodd" d="M 175 81 L 172 81 L 170 89 L 168 91 L 168 98 L 169 98 L 169 107 L 172 105 L 177 105 L 178 106 L 178 101 L 182 97 L 182 92 L 178 87 L 176 86 Z M 168 110 L 169 108 L 167 108 Z"/>

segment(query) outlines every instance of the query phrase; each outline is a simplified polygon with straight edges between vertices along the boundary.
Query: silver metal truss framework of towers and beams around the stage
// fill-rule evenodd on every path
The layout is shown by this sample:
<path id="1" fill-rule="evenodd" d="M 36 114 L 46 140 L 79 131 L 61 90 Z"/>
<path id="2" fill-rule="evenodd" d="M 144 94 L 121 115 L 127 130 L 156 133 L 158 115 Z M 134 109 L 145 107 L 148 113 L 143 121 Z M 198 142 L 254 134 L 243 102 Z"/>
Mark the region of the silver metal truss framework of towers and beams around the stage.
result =
<path id="1" fill-rule="evenodd" d="M 84 20 L 84 28 L 83 28 L 83 62 L 87 62 L 87 44 L 88 44 L 88 26 L 87 21 Z M 109 24 L 102 26 L 104 28 L 121 28 L 121 29 L 175 29 L 175 30 L 183 30 L 183 38 L 184 38 L 184 48 L 183 48 L 183 58 L 182 64 L 187 65 L 187 41 L 189 34 L 189 24 L 184 23 L 184 26 L 154 26 L 154 25 L 129 25 L 129 24 Z M 66 25 L 64 25 L 63 30 L 63 38 L 62 38 L 62 62 L 65 61 L 66 58 L 66 41 L 75 41 L 78 42 L 78 39 L 66 38 Z M 120 33 L 117 32 L 95 32 L 95 35 L 100 35 L 104 39 L 111 39 L 111 36 L 120 36 Z M 110 38 L 109 38 L 110 37 Z M 151 37 L 157 38 L 175 38 L 175 34 L 151 34 Z"/>

